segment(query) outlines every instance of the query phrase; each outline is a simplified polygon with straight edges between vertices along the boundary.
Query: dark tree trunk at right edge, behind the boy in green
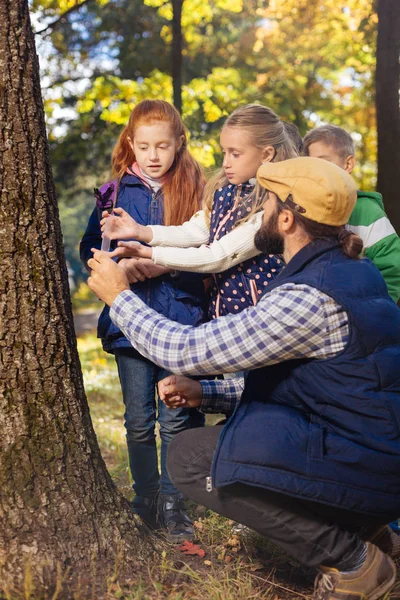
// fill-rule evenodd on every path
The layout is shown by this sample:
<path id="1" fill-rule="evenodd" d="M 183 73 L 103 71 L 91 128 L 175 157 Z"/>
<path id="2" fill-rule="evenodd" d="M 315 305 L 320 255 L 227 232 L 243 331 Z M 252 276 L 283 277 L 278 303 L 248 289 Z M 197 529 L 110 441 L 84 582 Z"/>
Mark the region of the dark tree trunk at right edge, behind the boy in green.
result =
<path id="1" fill-rule="evenodd" d="M 376 112 L 378 126 L 378 191 L 400 231 L 400 2 L 378 1 Z"/>

